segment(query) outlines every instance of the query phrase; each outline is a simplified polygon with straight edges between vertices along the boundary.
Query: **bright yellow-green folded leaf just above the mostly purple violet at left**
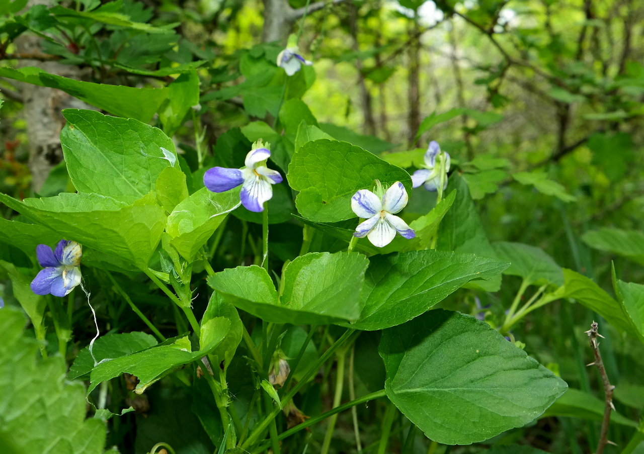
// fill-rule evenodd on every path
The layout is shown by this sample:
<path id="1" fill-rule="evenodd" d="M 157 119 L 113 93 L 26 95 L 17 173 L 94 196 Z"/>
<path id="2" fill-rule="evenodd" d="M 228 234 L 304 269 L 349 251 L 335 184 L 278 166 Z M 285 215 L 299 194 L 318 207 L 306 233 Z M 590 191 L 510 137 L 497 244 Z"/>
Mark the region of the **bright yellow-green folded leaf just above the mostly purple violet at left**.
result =
<path id="1" fill-rule="evenodd" d="M 166 216 L 148 195 L 131 205 L 99 194 L 62 193 L 23 203 L 0 194 L 0 202 L 62 238 L 146 268 L 161 239 Z"/>

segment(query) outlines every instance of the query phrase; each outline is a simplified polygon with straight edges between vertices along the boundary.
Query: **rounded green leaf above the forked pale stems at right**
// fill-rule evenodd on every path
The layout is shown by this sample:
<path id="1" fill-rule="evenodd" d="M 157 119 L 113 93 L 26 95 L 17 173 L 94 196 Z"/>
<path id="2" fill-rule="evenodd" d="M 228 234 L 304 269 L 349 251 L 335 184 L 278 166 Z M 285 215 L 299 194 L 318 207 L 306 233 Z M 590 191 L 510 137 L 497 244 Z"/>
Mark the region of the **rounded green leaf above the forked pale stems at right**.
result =
<path id="1" fill-rule="evenodd" d="M 500 260 L 511 263 L 504 274 L 520 276 L 530 285 L 564 285 L 564 272 L 543 249 L 506 241 L 498 241 L 492 246 Z"/>

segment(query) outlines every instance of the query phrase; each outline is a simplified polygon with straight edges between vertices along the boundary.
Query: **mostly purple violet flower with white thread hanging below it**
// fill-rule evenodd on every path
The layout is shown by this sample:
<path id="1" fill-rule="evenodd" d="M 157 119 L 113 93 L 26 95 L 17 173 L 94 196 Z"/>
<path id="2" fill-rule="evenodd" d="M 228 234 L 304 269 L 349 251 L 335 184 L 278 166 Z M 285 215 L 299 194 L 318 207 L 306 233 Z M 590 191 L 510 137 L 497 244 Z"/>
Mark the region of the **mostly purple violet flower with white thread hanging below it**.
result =
<path id="1" fill-rule="evenodd" d="M 62 297 L 81 283 L 82 248 L 76 241 L 61 240 L 55 251 L 48 245 L 39 244 L 36 256 L 44 269 L 32 281 L 33 293 Z"/>

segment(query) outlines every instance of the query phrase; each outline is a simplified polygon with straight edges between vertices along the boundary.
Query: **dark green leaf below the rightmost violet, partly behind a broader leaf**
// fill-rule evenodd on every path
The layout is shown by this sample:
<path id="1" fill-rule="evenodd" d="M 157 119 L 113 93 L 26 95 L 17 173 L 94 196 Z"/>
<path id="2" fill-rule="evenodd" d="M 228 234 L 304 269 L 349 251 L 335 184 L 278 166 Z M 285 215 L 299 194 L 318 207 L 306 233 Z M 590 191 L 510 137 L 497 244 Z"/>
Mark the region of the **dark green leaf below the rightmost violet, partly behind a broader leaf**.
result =
<path id="1" fill-rule="evenodd" d="M 448 195 L 451 191 L 456 191 L 456 198 L 440 222 L 436 249 L 496 258 L 466 182 L 458 175 L 451 175 L 447 191 Z M 501 276 L 485 282 L 477 281 L 472 285 L 474 288 L 496 292 L 501 287 Z"/>

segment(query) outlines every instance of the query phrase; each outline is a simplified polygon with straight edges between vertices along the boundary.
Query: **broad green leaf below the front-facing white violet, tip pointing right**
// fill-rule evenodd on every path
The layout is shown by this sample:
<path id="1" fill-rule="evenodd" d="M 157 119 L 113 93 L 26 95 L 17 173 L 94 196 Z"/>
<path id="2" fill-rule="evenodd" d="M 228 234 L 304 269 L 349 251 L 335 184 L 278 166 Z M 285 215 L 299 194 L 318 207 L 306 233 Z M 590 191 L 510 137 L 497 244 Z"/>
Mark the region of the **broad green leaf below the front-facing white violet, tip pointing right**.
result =
<path id="1" fill-rule="evenodd" d="M 360 318 L 351 325 L 380 330 L 401 325 L 473 279 L 490 279 L 508 263 L 473 254 L 410 251 L 374 256 L 360 294 Z"/>

